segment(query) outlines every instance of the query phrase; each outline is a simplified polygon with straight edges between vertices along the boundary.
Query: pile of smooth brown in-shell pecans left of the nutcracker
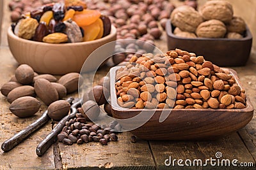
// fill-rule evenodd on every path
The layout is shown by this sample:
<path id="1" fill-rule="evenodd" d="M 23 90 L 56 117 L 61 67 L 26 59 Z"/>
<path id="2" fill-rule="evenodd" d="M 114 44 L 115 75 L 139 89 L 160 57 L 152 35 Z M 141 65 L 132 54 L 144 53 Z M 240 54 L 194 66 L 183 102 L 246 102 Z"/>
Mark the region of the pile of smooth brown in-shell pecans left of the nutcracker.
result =
<path id="1" fill-rule="evenodd" d="M 76 92 L 79 73 L 68 73 L 58 80 L 51 74 L 38 75 L 33 69 L 22 64 L 17 67 L 15 76 L 1 87 L 1 93 L 11 104 L 10 111 L 18 117 L 29 117 L 41 106 L 41 101 L 49 106 L 67 94 Z"/>

